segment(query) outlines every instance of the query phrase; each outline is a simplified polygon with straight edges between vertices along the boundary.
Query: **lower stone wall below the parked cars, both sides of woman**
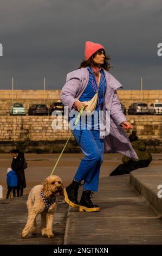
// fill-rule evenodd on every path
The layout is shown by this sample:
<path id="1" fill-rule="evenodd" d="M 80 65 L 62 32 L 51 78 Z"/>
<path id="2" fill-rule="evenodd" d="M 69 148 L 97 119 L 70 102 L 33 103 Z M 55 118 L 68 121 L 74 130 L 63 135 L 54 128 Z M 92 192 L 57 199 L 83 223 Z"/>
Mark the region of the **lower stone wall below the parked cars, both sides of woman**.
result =
<path id="1" fill-rule="evenodd" d="M 139 138 L 146 141 L 147 148 L 152 152 L 161 151 L 161 115 L 127 115 L 127 120 L 137 130 Z M 71 130 L 53 130 L 53 121 L 55 117 L 51 116 L 0 116 L 0 153 L 8 152 L 17 145 L 25 152 L 60 152 Z M 126 133 L 127 136 L 130 134 Z M 79 150 L 79 147 L 72 135 L 66 151 L 75 150 Z"/>

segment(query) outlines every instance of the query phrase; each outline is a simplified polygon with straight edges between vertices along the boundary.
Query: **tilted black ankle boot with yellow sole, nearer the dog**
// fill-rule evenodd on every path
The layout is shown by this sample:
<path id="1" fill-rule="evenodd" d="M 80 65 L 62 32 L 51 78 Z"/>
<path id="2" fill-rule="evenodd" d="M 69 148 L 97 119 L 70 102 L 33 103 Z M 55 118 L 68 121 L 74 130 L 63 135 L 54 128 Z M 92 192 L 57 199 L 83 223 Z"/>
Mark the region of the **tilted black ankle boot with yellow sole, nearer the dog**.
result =
<path id="1" fill-rule="evenodd" d="M 65 202 L 74 208 L 78 208 L 79 206 L 79 202 L 77 201 L 77 192 L 80 186 L 81 182 L 73 180 L 72 183 L 64 189 Z"/>

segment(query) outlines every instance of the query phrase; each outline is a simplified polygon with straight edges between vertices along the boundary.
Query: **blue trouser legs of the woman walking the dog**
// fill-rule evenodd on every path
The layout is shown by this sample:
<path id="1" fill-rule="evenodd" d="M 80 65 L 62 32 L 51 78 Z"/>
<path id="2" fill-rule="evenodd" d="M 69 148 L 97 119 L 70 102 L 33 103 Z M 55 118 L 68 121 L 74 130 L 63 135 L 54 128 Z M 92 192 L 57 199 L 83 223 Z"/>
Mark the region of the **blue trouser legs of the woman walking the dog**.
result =
<path id="1" fill-rule="evenodd" d="M 104 141 L 100 139 L 99 130 L 77 130 L 73 135 L 85 155 L 81 160 L 74 179 L 85 180 L 83 188 L 90 191 L 98 191 L 100 166 L 103 161 Z"/>

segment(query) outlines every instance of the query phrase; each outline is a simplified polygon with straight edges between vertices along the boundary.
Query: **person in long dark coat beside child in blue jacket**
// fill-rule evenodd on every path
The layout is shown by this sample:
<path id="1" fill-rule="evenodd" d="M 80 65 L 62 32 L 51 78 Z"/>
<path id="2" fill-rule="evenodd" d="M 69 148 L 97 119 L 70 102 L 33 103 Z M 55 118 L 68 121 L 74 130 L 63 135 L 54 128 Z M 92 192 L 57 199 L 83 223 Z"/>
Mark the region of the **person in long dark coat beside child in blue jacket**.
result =
<path id="1" fill-rule="evenodd" d="M 17 197 L 19 197 L 23 196 L 23 189 L 26 187 L 24 173 L 24 153 L 20 152 L 19 149 L 13 149 L 11 151 L 11 155 L 13 156 L 11 168 L 15 170 L 18 178 Z"/>

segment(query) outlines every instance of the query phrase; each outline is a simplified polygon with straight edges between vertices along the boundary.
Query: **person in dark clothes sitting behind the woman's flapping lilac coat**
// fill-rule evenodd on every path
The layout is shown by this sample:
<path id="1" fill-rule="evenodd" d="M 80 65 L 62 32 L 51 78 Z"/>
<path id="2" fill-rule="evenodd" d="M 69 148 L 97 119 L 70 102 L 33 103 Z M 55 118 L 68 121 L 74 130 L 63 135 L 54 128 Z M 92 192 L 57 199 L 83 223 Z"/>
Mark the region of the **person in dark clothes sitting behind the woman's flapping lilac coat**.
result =
<path id="1" fill-rule="evenodd" d="M 132 170 L 138 168 L 147 167 L 148 164 L 152 161 L 152 155 L 146 150 L 146 144 L 144 141 L 138 139 L 135 131 L 132 131 L 132 135 L 129 136 L 132 147 L 135 150 L 135 153 L 138 155 L 139 160 L 131 159 L 127 156 L 122 157 L 122 164 L 113 170 L 109 176 L 129 174 Z"/>

